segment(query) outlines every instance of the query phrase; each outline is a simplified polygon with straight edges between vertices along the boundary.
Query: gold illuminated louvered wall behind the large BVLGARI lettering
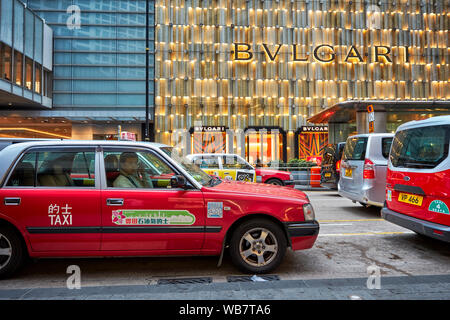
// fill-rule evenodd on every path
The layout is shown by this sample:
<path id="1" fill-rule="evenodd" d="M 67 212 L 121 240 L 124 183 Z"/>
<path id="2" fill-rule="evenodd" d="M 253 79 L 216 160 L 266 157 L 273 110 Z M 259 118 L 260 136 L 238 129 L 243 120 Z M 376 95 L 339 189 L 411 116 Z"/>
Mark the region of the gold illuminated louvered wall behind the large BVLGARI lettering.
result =
<path id="1" fill-rule="evenodd" d="M 194 121 L 290 132 L 348 99 L 450 99 L 448 1 L 155 1 L 163 143 Z"/>

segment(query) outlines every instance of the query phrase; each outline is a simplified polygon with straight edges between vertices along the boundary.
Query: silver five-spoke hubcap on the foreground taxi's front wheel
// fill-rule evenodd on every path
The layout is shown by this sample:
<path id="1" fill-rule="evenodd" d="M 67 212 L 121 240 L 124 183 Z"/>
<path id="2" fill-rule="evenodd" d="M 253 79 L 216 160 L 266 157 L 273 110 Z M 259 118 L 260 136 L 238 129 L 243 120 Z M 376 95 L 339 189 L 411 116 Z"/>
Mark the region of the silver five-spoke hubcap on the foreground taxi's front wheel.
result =
<path id="1" fill-rule="evenodd" d="M 272 232 L 264 228 L 254 228 L 246 232 L 239 243 L 242 259 L 255 267 L 272 262 L 278 252 L 278 243 Z"/>

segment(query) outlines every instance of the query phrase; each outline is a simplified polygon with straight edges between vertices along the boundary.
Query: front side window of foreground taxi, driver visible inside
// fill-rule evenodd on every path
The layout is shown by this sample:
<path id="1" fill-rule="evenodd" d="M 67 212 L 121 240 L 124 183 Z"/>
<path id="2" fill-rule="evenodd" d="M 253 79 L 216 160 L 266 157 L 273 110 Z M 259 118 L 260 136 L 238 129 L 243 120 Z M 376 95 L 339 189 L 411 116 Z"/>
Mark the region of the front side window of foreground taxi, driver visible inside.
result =
<path id="1" fill-rule="evenodd" d="M 166 189 L 175 175 L 164 160 L 146 151 L 105 151 L 104 161 L 110 188 Z"/>

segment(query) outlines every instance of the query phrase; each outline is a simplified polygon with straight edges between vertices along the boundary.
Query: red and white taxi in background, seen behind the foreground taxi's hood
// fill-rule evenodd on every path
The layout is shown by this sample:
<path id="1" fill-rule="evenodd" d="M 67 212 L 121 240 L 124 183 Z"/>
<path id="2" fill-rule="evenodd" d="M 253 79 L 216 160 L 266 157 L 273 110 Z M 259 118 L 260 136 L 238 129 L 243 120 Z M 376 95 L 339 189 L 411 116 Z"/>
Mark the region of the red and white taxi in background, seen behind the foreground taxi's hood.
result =
<path id="1" fill-rule="evenodd" d="M 270 168 L 255 168 L 237 154 L 198 153 L 190 154 L 187 158 L 195 162 L 206 173 L 222 179 L 295 186 L 291 173 Z"/>

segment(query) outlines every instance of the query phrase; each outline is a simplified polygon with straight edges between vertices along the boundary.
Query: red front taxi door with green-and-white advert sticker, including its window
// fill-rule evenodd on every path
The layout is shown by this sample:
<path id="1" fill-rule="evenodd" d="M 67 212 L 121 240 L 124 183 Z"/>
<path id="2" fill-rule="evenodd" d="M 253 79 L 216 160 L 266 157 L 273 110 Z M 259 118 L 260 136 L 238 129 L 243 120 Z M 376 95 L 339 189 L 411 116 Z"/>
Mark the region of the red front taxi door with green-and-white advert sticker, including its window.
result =
<path id="1" fill-rule="evenodd" d="M 156 151 L 104 147 L 103 158 L 111 156 L 117 157 L 120 174 L 102 182 L 101 250 L 200 250 L 206 213 L 201 190 L 161 183 L 179 172 Z"/>

